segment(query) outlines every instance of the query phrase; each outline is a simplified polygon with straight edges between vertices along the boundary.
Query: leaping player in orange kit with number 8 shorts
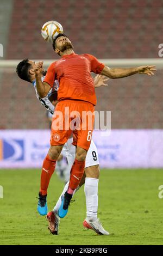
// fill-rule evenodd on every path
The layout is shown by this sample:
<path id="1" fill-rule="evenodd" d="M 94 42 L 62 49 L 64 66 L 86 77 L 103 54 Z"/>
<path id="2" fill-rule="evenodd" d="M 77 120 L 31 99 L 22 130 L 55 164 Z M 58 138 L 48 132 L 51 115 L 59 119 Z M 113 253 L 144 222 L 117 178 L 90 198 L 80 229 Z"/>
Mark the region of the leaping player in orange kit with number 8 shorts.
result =
<path id="1" fill-rule="evenodd" d="M 59 217 L 63 218 L 68 211 L 68 205 L 72 198 L 74 190 L 78 187 L 82 179 L 85 166 L 85 157 L 87 150 L 90 147 L 92 130 L 93 130 L 93 113 L 96 105 L 95 87 L 90 72 L 108 76 L 109 78 L 122 78 L 134 74 L 154 75 L 154 66 L 140 66 L 137 68 L 115 68 L 110 69 L 108 66 L 98 62 L 98 60 L 90 54 L 78 55 L 73 51 L 71 41 L 64 34 L 59 34 L 53 41 L 54 51 L 61 56 L 61 59 L 52 63 L 48 70 L 44 81 L 41 81 L 42 62 L 34 67 L 36 77 L 36 88 L 40 97 L 45 97 L 51 87 L 53 87 L 54 80 L 59 81 L 60 87 L 58 90 L 57 106 L 52 122 L 51 133 L 51 148 L 48 155 L 43 161 L 41 173 L 41 188 L 39 192 L 40 200 L 46 201 L 47 187 L 49 180 L 54 172 L 55 163 L 61 153 L 62 147 L 67 139 L 73 133 L 73 144 L 76 145 L 76 158 L 71 168 L 70 184 L 68 190 L 62 197 L 62 204 L 58 211 Z M 76 116 L 66 115 L 66 109 L 69 113 L 78 112 L 79 118 Z M 89 120 L 84 120 L 83 112 L 89 112 Z M 62 113 L 62 122 L 59 126 L 56 125 L 58 113 Z M 71 121 L 77 120 L 80 129 L 73 130 L 71 128 Z M 68 129 L 67 129 L 68 122 Z M 66 124 L 65 124 L 66 123 Z M 91 125 L 90 125 L 91 124 Z M 82 125 L 84 129 L 82 130 Z"/>

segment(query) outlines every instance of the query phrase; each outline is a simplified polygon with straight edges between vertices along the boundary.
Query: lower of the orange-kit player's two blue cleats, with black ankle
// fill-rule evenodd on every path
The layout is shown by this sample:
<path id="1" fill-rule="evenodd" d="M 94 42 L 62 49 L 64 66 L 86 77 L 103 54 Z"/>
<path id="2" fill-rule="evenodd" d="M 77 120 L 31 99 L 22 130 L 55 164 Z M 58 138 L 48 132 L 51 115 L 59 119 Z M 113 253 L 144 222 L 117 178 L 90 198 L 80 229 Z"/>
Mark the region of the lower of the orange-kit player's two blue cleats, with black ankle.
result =
<path id="1" fill-rule="evenodd" d="M 72 194 L 68 194 L 67 192 L 65 192 L 64 196 L 61 197 L 61 206 L 58 210 L 58 216 L 60 218 L 64 218 L 68 212 L 68 206 L 70 205 L 70 201 L 72 198 Z"/>

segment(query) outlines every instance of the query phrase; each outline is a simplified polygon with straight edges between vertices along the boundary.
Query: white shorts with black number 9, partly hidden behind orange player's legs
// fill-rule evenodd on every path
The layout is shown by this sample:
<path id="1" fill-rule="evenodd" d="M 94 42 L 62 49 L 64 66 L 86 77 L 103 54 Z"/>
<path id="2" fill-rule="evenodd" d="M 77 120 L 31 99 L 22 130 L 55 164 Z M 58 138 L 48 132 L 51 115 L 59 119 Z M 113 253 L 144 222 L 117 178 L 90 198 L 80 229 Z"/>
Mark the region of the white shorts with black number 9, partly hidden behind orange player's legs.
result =
<path id="1" fill-rule="evenodd" d="M 73 138 L 68 139 L 68 141 L 65 143 L 63 148 L 66 153 L 68 165 L 70 167 L 72 167 L 72 164 L 76 156 L 76 147 L 72 145 L 72 141 L 73 141 Z M 90 148 L 86 154 L 85 168 L 90 166 L 96 166 L 97 164 L 99 164 L 97 148 L 95 143 L 92 140 Z"/>

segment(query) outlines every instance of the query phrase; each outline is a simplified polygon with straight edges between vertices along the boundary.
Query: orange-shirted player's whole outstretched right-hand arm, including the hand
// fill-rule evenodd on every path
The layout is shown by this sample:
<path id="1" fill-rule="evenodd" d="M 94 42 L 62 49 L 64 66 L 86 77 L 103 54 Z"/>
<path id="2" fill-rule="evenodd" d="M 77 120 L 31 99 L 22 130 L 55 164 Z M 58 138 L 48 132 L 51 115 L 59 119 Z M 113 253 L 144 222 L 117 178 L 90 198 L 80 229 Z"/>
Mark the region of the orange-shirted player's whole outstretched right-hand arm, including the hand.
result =
<path id="1" fill-rule="evenodd" d="M 115 68 L 110 69 L 108 66 L 104 66 L 101 75 L 108 76 L 109 78 L 122 78 L 131 76 L 134 74 L 146 74 L 148 76 L 154 75 L 153 71 L 156 71 L 155 66 L 138 66 L 137 68 Z"/>

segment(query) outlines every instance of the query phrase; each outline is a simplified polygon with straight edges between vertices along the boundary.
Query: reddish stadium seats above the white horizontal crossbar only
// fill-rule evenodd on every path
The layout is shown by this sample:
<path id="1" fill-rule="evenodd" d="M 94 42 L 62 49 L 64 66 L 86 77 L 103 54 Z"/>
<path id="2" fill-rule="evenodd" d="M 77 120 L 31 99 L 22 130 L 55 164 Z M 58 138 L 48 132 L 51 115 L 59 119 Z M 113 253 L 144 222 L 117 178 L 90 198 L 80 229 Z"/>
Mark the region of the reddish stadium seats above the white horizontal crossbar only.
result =
<path id="1" fill-rule="evenodd" d="M 40 36 L 47 20 L 62 24 L 78 53 L 89 51 L 98 58 L 155 58 L 162 40 L 160 7 L 159 0 L 15 0 L 9 33 L 14 48 L 9 43 L 7 58 L 52 58 L 51 46 Z"/>

